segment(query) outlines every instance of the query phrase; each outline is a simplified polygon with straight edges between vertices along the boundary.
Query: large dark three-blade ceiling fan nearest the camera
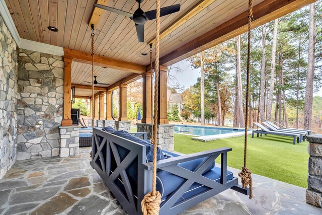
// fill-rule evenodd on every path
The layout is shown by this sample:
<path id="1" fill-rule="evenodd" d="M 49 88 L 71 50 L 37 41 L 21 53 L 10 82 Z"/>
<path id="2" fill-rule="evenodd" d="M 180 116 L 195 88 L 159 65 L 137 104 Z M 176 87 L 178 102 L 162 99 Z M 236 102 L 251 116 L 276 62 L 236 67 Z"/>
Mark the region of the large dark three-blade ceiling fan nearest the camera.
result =
<path id="1" fill-rule="evenodd" d="M 135 23 L 137 38 L 138 38 L 139 42 L 144 42 L 144 23 L 148 20 L 153 20 L 156 18 L 156 10 L 144 12 L 141 9 L 141 3 L 143 2 L 143 0 L 135 0 L 135 1 L 139 4 L 139 8 L 136 9 L 134 14 L 128 13 L 126 11 L 121 11 L 121 10 L 118 10 L 115 8 L 110 8 L 110 7 L 107 7 L 104 5 L 100 5 L 100 4 L 94 4 L 93 6 L 113 12 L 113 13 L 117 13 L 117 14 L 126 16 L 126 17 L 130 18 L 131 20 L 133 20 Z M 166 15 L 169 15 L 172 13 L 176 13 L 178 11 L 180 11 L 180 4 L 161 8 L 160 17 L 166 16 Z"/>

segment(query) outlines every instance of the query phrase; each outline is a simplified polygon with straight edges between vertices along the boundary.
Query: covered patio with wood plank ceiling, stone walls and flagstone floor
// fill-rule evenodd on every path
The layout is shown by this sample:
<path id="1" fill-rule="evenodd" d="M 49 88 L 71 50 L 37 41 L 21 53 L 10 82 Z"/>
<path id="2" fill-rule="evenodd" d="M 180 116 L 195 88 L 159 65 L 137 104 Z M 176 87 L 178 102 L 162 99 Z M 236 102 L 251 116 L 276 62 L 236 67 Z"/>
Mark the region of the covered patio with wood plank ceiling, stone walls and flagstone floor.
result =
<path id="1" fill-rule="evenodd" d="M 256 0 L 253 28 L 314 2 Z M 71 103 L 73 98 L 90 99 L 94 127 L 129 131 L 127 85 L 142 79 L 143 116 L 137 131 L 147 132 L 149 138 L 154 70 L 148 53 L 149 44 L 154 53 L 155 22 L 145 24 L 140 43 L 130 19 L 93 8 L 95 3 L 130 13 L 137 9 L 134 0 L 0 2 L 1 214 L 125 213 L 90 166 L 90 149 L 79 148 Z M 180 11 L 162 17 L 160 27 L 157 124 L 162 138 L 157 144 L 167 151 L 174 151 L 173 125 L 167 119 L 168 66 L 248 30 L 248 1 L 167 0 L 162 7 L 175 4 L 181 4 Z M 155 2 L 144 1 L 141 8 L 153 10 Z M 94 75 L 99 82 L 94 97 L 91 33 L 95 34 Z M 153 56 L 153 65 L 154 60 Z M 118 119 L 112 115 L 116 89 Z M 183 214 L 321 213 L 305 203 L 303 188 L 257 175 L 254 187 L 253 200 L 229 189 Z M 321 192 L 312 192 L 313 200 L 306 201 L 322 205 Z"/>

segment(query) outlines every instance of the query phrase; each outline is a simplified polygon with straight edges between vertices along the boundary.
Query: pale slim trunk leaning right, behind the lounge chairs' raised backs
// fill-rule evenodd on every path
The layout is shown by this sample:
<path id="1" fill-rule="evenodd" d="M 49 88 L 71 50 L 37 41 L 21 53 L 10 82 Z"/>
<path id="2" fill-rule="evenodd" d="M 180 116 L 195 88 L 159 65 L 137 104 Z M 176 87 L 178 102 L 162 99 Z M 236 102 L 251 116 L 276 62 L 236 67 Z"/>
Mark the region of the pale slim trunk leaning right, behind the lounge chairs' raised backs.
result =
<path id="1" fill-rule="evenodd" d="M 272 105 L 273 105 L 273 94 L 274 94 L 274 78 L 275 78 L 275 59 L 276 59 L 276 42 L 277 42 L 277 26 L 278 19 L 274 21 L 274 31 L 273 31 L 273 42 L 272 42 L 272 63 L 271 63 L 271 83 L 270 92 L 267 102 L 267 121 L 271 121 Z M 276 102 L 277 104 L 277 102 Z"/>

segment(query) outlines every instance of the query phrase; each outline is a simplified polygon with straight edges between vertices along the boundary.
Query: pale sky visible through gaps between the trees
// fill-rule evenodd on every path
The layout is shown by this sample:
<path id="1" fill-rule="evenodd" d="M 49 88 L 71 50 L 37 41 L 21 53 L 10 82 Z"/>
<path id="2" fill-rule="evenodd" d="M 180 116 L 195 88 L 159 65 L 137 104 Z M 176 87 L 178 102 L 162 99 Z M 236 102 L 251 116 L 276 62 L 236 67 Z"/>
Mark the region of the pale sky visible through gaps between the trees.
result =
<path id="1" fill-rule="evenodd" d="M 197 83 L 197 78 L 200 77 L 200 69 L 195 69 L 190 67 L 190 64 L 187 60 L 182 60 L 178 63 L 173 64 L 174 67 L 180 67 L 182 72 L 172 74 L 176 76 L 178 82 L 185 87 L 185 89 L 189 88 L 191 85 Z M 313 96 L 321 96 L 322 97 L 322 88 L 319 92 L 314 93 Z"/>

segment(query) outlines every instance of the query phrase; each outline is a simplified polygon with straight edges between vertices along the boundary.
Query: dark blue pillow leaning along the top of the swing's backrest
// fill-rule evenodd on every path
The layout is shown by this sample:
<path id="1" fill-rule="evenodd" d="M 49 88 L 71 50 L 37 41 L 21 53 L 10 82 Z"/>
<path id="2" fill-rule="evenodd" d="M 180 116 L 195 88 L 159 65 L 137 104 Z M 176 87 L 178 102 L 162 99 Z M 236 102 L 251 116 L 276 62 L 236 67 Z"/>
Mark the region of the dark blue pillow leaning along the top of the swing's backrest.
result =
<path id="1" fill-rule="evenodd" d="M 150 142 L 147 142 L 143 139 L 137 138 L 125 130 L 115 131 L 114 134 L 117 136 L 123 137 L 125 139 L 132 140 L 138 144 L 146 146 L 146 162 L 153 161 L 153 145 L 150 144 Z M 121 153 L 121 152 L 119 152 L 119 153 Z M 163 156 L 163 153 L 161 152 L 160 148 L 157 147 L 156 160 L 159 161 L 159 160 L 163 160 L 163 159 L 165 159 L 165 157 Z"/>

